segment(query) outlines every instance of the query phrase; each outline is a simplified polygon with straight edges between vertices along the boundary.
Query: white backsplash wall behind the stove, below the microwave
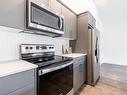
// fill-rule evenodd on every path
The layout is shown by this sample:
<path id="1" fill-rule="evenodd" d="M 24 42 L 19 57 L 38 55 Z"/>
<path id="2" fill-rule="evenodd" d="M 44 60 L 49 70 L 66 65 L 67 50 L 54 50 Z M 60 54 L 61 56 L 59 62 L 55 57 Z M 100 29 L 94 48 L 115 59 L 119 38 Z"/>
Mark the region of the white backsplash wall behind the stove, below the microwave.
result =
<path id="1" fill-rule="evenodd" d="M 62 54 L 62 45 L 69 47 L 69 40 L 42 35 L 19 33 L 19 30 L 0 26 L 0 62 L 19 59 L 20 44 L 54 44 L 56 54 Z"/>

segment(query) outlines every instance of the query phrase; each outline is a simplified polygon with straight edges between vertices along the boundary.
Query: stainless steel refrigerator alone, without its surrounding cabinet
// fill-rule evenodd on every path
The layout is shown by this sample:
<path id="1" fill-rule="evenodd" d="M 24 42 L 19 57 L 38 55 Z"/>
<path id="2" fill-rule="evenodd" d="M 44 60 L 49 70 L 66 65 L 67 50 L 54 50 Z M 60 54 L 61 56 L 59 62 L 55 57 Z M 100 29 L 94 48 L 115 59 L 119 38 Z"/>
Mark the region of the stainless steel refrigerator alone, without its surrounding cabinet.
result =
<path id="1" fill-rule="evenodd" d="M 95 28 L 88 29 L 87 49 L 87 83 L 95 85 L 100 76 L 99 32 Z"/>

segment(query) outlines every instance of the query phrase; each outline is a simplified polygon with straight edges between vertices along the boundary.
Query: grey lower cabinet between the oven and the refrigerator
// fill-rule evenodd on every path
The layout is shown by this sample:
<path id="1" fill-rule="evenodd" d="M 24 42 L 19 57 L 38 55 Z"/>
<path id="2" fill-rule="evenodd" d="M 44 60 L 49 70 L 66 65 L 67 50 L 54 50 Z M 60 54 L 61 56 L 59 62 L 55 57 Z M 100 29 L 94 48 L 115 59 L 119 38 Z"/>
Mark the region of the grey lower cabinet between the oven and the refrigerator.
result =
<path id="1" fill-rule="evenodd" d="M 74 93 L 85 83 L 86 80 L 86 56 L 74 59 Z"/>

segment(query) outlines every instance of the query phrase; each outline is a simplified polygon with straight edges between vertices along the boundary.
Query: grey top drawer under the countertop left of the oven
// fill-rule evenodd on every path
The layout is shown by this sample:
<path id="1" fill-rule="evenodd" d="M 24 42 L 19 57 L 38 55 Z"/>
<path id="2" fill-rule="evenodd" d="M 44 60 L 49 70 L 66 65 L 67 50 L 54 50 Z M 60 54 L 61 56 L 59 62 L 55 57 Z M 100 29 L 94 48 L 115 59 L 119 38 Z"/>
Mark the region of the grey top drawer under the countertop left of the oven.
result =
<path id="1" fill-rule="evenodd" d="M 28 84 L 34 83 L 34 70 L 0 78 L 0 95 L 6 95 Z"/>

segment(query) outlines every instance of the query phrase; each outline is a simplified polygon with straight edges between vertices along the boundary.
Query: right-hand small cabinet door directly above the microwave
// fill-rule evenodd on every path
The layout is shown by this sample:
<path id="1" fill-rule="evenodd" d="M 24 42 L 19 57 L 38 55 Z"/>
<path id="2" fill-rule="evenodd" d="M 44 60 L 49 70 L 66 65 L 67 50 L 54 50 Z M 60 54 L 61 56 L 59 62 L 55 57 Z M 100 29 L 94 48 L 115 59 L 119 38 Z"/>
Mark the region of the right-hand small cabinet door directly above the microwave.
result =
<path id="1" fill-rule="evenodd" d="M 53 12 L 55 12 L 56 14 L 60 14 L 61 15 L 62 6 L 61 6 L 61 4 L 59 2 L 57 0 L 51 0 L 50 4 L 51 4 L 51 6 L 50 6 L 51 10 Z"/>

